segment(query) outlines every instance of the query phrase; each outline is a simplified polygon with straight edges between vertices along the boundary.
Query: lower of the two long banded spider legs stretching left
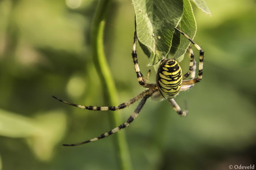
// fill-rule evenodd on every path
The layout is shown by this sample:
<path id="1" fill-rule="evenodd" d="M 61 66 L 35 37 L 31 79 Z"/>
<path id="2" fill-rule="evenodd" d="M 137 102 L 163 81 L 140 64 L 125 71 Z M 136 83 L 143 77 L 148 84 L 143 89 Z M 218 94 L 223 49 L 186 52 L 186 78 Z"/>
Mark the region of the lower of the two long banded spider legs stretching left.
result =
<path id="1" fill-rule="evenodd" d="M 133 122 L 134 119 L 136 119 L 136 117 L 139 115 L 140 110 L 142 109 L 142 107 L 144 106 L 144 104 L 146 103 L 146 100 L 151 96 L 151 94 L 146 95 L 142 98 L 142 100 L 140 101 L 139 105 L 136 107 L 135 111 L 133 112 L 133 114 L 127 119 L 127 121 L 123 124 L 121 124 L 120 126 L 104 133 L 101 134 L 99 137 L 84 141 L 84 142 L 80 142 L 80 143 L 74 143 L 74 144 L 63 144 L 63 146 L 77 146 L 77 145 L 83 145 L 85 143 L 89 143 L 89 142 L 93 142 L 93 141 L 97 141 L 99 139 L 108 137 L 109 135 L 112 135 L 113 133 L 116 133 L 117 131 L 124 129 L 125 127 L 129 126 L 129 124 L 131 124 Z"/>

